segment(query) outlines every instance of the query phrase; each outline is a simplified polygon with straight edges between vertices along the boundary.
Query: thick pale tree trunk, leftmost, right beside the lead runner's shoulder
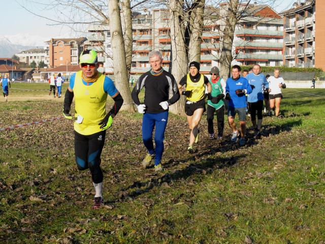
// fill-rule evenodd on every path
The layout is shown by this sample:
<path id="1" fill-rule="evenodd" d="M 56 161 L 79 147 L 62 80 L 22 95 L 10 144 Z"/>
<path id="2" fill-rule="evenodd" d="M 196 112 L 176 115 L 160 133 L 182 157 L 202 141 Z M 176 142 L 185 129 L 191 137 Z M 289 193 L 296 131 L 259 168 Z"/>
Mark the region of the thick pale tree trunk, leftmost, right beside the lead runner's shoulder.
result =
<path id="1" fill-rule="evenodd" d="M 108 0 L 115 85 L 124 103 L 121 110 L 135 111 L 128 84 L 124 40 L 118 0 Z"/>

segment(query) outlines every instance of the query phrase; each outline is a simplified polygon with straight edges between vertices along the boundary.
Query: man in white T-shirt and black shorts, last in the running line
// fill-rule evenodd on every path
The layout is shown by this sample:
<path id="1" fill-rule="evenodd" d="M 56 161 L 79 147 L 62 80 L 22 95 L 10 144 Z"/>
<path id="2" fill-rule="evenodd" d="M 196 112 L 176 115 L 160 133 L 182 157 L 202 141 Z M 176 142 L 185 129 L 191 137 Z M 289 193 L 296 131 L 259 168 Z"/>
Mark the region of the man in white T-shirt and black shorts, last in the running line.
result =
<path id="1" fill-rule="evenodd" d="M 269 89 L 269 99 L 270 99 L 270 108 L 274 110 L 275 107 L 275 116 L 282 118 L 280 113 L 280 103 L 282 99 L 281 88 L 285 88 L 286 85 L 282 77 L 280 77 L 280 69 L 274 69 L 274 76 L 270 76 L 268 79 L 270 84 Z"/>

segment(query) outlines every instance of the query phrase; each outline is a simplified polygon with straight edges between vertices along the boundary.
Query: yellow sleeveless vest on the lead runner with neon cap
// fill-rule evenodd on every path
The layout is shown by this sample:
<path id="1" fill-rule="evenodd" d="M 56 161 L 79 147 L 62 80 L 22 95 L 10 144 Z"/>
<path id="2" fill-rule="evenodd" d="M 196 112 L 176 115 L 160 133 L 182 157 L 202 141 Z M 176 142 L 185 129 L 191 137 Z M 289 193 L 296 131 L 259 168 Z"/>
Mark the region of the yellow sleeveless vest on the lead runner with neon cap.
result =
<path id="1" fill-rule="evenodd" d="M 91 135 L 102 131 L 99 123 L 106 114 L 107 93 L 104 91 L 102 74 L 91 86 L 82 82 L 82 71 L 77 72 L 73 93 L 75 97 L 74 129 L 82 135 Z M 81 123 L 80 123 L 81 122 Z"/>

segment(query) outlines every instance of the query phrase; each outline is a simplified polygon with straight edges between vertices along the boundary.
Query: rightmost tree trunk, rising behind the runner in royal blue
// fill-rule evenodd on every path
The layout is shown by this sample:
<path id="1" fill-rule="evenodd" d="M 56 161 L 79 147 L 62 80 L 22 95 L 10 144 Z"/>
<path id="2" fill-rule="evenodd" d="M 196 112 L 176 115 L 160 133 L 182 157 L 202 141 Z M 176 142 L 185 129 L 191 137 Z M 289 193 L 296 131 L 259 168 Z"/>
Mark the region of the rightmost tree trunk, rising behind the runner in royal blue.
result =
<path id="1" fill-rule="evenodd" d="M 232 48 L 234 41 L 234 32 L 237 24 L 237 8 L 239 0 L 229 0 L 230 3 L 225 5 L 228 7 L 224 17 L 224 29 L 222 35 L 222 52 L 220 56 L 220 76 L 226 80 L 230 77 L 231 63 L 233 60 Z"/>

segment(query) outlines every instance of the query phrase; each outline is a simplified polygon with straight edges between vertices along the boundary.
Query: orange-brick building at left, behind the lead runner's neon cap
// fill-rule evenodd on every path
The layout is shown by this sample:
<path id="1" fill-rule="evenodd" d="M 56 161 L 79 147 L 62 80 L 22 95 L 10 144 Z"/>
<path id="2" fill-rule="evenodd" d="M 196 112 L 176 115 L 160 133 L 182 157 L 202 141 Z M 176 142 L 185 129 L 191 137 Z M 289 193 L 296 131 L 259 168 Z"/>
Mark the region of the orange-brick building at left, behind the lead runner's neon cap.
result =
<path id="1" fill-rule="evenodd" d="M 49 66 L 53 68 L 60 65 L 77 65 L 86 40 L 85 37 L 52 38 L 50 41 L 45 42 L 49 45 Z"/>

